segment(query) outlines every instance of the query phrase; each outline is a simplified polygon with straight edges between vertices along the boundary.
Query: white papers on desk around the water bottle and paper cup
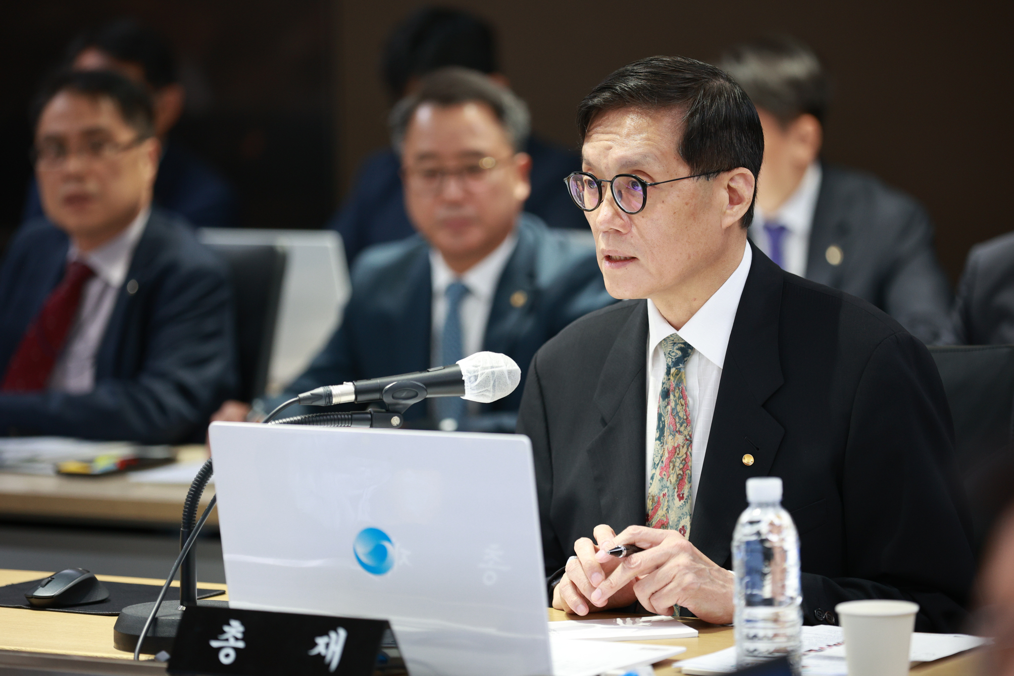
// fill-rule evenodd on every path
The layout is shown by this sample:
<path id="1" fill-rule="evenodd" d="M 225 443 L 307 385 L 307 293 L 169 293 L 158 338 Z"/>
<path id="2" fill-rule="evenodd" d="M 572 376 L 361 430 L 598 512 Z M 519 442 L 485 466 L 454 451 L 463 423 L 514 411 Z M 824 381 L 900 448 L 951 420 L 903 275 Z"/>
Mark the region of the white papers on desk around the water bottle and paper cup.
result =
<path id="1" fill-rule="evenodd" d="M 846 676 L 845 635 L 840 626 L 803 627 L 803 676 Z M 986 643 L 986 639 L 964 633 L 913 633 L 909 659 L 912 662 L 932 662 L 970 650 Z M 736 649 L 702 655 L 677 662 L 684 674 L 715 676 L 736 670 Z"/>

